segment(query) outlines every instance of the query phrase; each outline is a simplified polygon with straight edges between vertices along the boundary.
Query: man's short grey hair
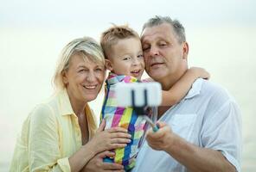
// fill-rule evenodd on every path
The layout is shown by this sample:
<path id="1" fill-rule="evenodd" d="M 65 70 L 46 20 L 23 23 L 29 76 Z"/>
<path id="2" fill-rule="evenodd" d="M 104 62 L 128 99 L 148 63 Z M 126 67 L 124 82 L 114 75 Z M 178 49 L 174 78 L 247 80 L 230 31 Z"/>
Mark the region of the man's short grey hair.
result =
<path id="1" fill-rule="evenodd" d="M 170 16 L 156 15 L 155 17 L 150 18 L 150 20 L 148 20 L 148 22 L 144 23 L 142 33 L 145 28 L 151 28 L 154 26 L 161 25 L 163 23 L 168 23 L 168 24 L 170 24 L 170 26 L 172 26 L 179 43 L 186 41 L 185 28 L 182 26 L 182 23 L 180 23 L 177 20 L 171 20 Z"/>

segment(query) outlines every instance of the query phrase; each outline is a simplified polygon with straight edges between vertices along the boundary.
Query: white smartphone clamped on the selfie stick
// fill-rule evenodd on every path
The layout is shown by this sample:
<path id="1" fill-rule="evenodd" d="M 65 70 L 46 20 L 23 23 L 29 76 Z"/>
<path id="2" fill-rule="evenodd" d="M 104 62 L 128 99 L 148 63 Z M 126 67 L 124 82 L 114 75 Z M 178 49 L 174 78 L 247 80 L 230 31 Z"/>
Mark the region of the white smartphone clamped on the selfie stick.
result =
<path id="1" fill-rule="evenodd" d="M 142 115 L 154 132 L 159 129 L 145 114 L 145 107 L 158 106 L 161 103 L 161 85 L 159 83 L 118 83 L 116 88 L 118 106 L 133 107 Z"/>

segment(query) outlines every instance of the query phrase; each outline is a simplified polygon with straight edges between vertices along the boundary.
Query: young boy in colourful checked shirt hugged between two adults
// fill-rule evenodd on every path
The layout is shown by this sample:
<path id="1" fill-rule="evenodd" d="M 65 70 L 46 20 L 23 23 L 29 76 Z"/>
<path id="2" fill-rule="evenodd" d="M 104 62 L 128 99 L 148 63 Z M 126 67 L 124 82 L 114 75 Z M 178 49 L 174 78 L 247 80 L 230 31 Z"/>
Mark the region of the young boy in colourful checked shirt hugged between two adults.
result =
<path id="1" fill-rule="evenodd" d="M 105 161 L 121 163 L 125 171 L 128 171 L 135 165 L 145 120 L 138 116 L 132 107 L 117 106 L 114 88 L 116 83 L 120 82 L 141 82 L 144 72 L 143 50 L 138 34 L 126 26 L 107 29 L 101 35 L 100 44 L 106 57 L 106 68 L 111 71 L 106 79 L 106 95 L 100 120 L 106 120 L 106 128 L 121 126 L 131 134 L 131 143 L 123 149 L 115 150 L 115 157 L 106 157 Z M 201 68 L 190 68 L 169 91 L 163 91 L 162 106 L 174 105 L 181 101 L 198 77 L 207 78 L 208 72 Z"/>

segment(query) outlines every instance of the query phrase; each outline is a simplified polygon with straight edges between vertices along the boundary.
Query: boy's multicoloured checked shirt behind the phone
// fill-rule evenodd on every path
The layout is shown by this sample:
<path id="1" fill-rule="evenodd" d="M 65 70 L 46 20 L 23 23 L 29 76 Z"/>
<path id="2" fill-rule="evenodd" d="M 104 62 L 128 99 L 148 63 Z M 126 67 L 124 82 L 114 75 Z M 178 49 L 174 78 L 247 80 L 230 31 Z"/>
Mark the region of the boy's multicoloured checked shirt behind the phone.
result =
<path id="1" fill-rule="evenodd" d="M 125 170 L 130 170 L 135 166 L 138 147 L 144 135 L 145 120 L 142 116 L 138 116 L 132 107 L 118 107 L 114 89 L 117 83 L 135 82 L 138 82 L 136 77 L 118 76 L 110 73 L 106 80 L 105 100 L 100 114 L 100 121 L 106 120 L 106 129 L 120 126 L 127 129 L 131 134 L 131 143 L 127 144 L 125 148 L 115 150 L 114 158 L 105 158 L 105 162 L 124 165 Z"/>

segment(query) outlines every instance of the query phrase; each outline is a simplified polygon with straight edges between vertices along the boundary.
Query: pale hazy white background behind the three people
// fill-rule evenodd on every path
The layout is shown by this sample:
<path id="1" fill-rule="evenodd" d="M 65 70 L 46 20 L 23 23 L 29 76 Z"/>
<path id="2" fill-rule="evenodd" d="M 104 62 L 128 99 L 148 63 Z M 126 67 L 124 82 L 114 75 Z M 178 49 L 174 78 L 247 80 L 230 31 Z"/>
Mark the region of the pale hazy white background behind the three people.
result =
<path id="1" fill-rule="evenodd" d="M 240 105 L 242 171 L 256 171 L 256 2 L 253 0 L 3 1 L 0 0 L 0 171 L 8 171 L 17 134 L 29 112 L 53 93 L 61 48 L 84 35 L 99 40 L 111 23 L 140 33 L 154 15 L 182 22 L 189 65 L 202 66 Z M 103 94 L 91 103 L 99 116 Z"/>

